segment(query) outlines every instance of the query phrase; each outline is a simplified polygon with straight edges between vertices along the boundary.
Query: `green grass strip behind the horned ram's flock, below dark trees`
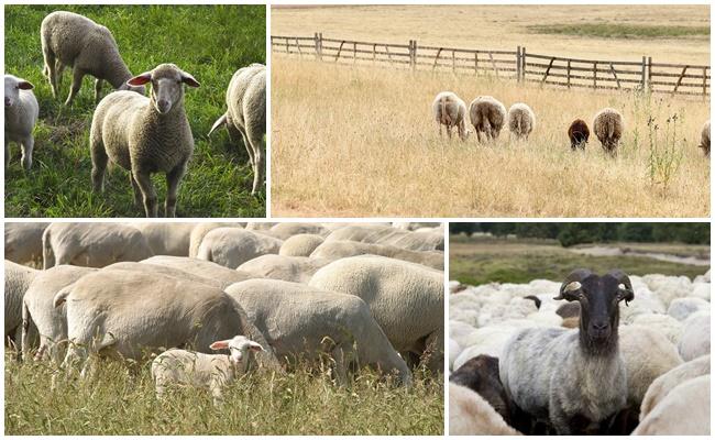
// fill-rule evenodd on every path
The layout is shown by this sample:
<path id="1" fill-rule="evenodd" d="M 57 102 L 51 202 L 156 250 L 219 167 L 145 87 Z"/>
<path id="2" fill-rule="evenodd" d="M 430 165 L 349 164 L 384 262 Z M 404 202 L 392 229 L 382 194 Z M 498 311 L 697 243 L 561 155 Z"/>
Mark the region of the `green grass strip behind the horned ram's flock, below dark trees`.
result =
<path id="1" fill-rule="evenodd" d="M 683 246 L 676 246 L 681 254 Z M 667 251 L 663 245 L 658 249 Z M 580 255 L 553 241 L 450 237 L 450 279 L 462 284 L 529 283 L 536 278 L 559 282 L 579 267 L 596 273 L 620 268 L 629 275 L 685 275 L 691 278 L 708 270 L 707 266 L 661 262 L 646 256 Z"/>

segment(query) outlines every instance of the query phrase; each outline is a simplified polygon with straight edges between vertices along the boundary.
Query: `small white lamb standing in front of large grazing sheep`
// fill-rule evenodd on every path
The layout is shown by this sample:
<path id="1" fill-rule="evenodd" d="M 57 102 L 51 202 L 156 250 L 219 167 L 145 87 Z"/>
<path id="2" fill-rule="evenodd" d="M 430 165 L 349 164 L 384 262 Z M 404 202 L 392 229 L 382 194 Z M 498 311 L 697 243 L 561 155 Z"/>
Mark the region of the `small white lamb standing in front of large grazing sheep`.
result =
<path id="1" fill-rule="evenodd" d="M 208 388 L 213 405 L 223 402 L 223 388 L 244 374 L 249 367 L 250 352 L 262 352 L 263 346 L 243 336 L 235 336 L 209 345 L 211 350 L 229 350 L 226 354 L 205 354 L 172 349 L 163 352 L 152 362 L 152 378 L 156 397 L 163 398 L 170 384 L 185 384 Z"/>

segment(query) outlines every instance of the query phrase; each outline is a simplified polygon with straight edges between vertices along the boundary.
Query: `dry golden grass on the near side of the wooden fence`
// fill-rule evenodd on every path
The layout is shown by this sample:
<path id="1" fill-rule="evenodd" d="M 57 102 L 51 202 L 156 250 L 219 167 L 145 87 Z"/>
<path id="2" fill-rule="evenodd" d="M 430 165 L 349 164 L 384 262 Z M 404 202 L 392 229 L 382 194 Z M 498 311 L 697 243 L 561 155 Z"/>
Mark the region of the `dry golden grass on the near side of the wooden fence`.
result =
<path id="1" fill-rule="evenodd" d="M 704 100 L 558 90 L 514 81 L 273 57 L 272 199 L 278 217 L 707 217 L 710 161 L 696 147 Z M 440 139 L 431 102 L 453 90 L 493 95 L 537 116 L 528 143 Z M 594 138 L 569 147 L 574 118 L 620 110 L 617 158 Z M 648 178 L 647 120 L 681 113 L 680 167 L 669 186 Z M 636 142 L 636 135 L 639 140 Z M 660 134 L 662 140 L 662 133 Z"/>

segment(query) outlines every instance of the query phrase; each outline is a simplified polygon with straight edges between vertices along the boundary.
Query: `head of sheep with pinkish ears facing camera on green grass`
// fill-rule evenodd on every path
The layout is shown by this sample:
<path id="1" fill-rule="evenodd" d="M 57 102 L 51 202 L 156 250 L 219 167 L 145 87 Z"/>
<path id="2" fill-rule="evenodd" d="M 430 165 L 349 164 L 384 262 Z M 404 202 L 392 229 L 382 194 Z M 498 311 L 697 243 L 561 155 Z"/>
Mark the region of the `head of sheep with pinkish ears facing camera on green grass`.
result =
<path id="1" fill-rule="evenodd" d="M 186 72 L 174 64 L 160 64 L 154 70 L 145 72 L 127 81 L 127 85 L 136 87 L 152 84 L 150 97 L 152 105 L 160 114 L 166 114 L 172 108 L 184 99 L 184 84 L 189 87 L 199 87 L 200 84 Z"/>

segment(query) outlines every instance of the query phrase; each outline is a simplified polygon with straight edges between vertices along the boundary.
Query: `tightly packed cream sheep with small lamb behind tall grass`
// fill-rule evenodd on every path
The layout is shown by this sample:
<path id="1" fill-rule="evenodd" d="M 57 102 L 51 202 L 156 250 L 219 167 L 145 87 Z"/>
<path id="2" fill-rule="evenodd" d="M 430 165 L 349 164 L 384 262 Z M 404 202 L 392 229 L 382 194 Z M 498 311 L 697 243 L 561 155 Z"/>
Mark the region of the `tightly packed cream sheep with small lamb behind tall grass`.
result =
<path id="1" fill-rule="evenodd" d="M 6 341 L 24 362 L 91 377 L 91 354 L 154 353 L 160 397 L 180 383 L 217 405 L 248 370 L 326 354 L 338 384 L 362 366 L 404 386 L 418 365 L 442 371 L 438 223 L 6 223 L 4 234 Z"/>

